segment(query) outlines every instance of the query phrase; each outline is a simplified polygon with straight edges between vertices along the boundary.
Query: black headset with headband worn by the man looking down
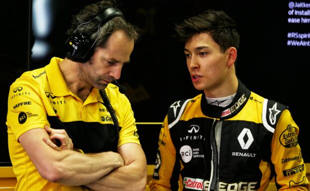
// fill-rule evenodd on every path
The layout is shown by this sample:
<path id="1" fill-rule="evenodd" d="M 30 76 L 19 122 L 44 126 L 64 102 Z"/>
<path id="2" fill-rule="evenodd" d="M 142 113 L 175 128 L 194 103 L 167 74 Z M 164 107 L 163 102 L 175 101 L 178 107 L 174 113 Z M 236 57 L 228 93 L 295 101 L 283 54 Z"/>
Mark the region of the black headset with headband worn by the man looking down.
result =
<path id="1" fill-rule="evenodd" d="M 82 32 L 77 32 L 78 28 L 74 33 L 68 38 L 65 45 L 67 48 L 66 57 L 74 62 L 85 63 L 87 62 L 93 54 L 93 49 L 96 41 L 99 38 L 100 27 L 117 16 L 124 16 L 123 13 L 116 7 L 108 7 L 102 9 L 92 20 L 84 22 L 78 26 L 88 24 L 90 22 L 96 22 L 98 24 L 97 38 L 96 40 L 90 40 L 87 34 Z"/>

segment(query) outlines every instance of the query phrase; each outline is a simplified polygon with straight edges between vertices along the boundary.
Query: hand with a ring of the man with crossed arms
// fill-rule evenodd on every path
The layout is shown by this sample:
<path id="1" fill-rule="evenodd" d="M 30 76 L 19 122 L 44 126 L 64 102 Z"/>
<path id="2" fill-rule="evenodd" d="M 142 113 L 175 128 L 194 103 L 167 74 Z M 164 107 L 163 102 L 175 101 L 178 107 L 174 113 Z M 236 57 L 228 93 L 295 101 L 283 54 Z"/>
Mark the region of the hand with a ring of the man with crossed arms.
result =
<path id="1" fill-rule="evenodd" d="M 44 129 L 50 136 L 50 139 L 43 138 L 43 141 L 49 145 L 51 148 L 61 151 L 61 150 L 73 150 L 73 142 L 68 136 L 65 129 L 54 129 L 48 126 L 44 126 Z M 56 140 L 59 140 L 61 144 L 58 146 Z"/>

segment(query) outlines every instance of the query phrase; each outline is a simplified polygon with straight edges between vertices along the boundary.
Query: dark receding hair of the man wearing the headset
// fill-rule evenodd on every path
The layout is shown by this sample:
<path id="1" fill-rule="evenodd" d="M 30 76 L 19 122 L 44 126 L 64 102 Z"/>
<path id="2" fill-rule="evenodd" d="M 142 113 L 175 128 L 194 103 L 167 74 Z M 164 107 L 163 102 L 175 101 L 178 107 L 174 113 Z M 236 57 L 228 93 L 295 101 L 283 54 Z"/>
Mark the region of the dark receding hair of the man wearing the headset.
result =
<path id="1" fill-rule="evenodd" d="M 68 29 L 67 34 L 72 35 L 80 24 L 92 20 L 102 9 L 107 7 L 116 7 L 116 5 L 109 0 L 102 0 L 86 5 L 77 15 L 73 16 L 72 25 Z M 104 47 L 107 39 L 114 31 L 117 30 L 124 31 L 127 37 L 134 40 L 134 42 L 136 42 L 139 38 L 139 29 L 127 22 L 124 17 L 117 16 L 107 21 L 100 27 L 99 38 L 96 41 L 94 48 Z M 97 31 L 98 24 L 96 22 L 90 22 L 80 26 L 76 32 L 84 33 L 89 36 L 90 40 L 95 41 L 97 38 Z"/>

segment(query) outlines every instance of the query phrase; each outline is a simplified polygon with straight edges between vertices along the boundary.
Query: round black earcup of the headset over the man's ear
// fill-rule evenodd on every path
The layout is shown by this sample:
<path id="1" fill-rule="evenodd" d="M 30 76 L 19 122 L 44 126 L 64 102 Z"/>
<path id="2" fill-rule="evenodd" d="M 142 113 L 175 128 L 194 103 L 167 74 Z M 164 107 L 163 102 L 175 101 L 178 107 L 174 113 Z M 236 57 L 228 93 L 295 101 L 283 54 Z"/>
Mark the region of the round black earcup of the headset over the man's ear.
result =
<path id="1" fill-rule="evenodd" d="M 89 60 L 91 55 L 92 43 L 83 33 L 74 33 L 66 41 L 67 54 L 66 57 L 72 61 L 85 63 Z M 90 53 L 90 54 L 89 54 Z"/>

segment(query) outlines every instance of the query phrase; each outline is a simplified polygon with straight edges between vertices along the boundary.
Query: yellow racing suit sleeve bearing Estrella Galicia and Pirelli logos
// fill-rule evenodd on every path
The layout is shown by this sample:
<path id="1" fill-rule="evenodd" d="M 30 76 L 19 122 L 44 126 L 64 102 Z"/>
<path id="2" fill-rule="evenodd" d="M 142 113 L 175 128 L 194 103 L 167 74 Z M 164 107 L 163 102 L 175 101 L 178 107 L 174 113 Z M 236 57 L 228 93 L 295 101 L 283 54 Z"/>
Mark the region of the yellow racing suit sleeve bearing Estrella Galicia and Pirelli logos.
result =
<path id="1" fill-rule="evenodd" d="M 279 191 L 308 191 L 306 166 L 298 144 L 299 127 L 285 109 L 277 123 L 271 143 L 271 161 L 275 166 Z"/>

